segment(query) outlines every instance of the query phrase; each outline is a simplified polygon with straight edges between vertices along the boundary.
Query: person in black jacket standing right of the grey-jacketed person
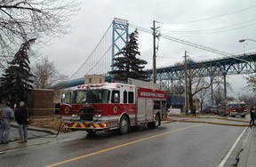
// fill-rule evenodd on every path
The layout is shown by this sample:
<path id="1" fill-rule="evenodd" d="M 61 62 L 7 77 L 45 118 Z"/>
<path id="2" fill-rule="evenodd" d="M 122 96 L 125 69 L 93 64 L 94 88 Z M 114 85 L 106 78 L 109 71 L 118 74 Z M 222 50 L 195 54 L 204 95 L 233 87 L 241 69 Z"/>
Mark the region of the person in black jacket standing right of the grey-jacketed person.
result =
<path id="1" fill-rule="evenodd" d="M 16 122 L 19 124 L 20 140 L 18 143 L 27 142 L 28 139 L 28 107 L 25 107 L 25 103 L 20 101 L 20 108 L 15 112 Z"/>

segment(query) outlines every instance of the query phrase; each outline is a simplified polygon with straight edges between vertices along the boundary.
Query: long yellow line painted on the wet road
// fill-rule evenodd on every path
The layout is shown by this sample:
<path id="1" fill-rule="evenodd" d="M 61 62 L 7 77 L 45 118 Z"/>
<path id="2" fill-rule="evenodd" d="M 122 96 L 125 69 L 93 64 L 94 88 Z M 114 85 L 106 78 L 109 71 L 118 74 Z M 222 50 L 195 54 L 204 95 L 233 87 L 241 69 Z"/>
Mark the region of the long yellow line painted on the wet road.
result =
<path id="1" fill-rule="evenodd" d="M 185 128 L 180 128 L 178 130 L 167 131 L 167 132 L 164 132 L 164 133 L 159 133 L 159 134 L 150 136 L 148 138 L 137 139 L 137 140 L 131 141 L 129 143 L 125 143 L 123 145 L 118 145 L 116 147 L 109 147 L 107 149 L 102 149 L 100 151 L 97 151 L 97 152 L 94 152 L 94 153 L 91 153 L 91 154 L 88 154 L 88 155 L 77 156 L 76 158 L 72 158 L 72 159 L 69 159 L 69 160 L 66 160 L 66 161 L 63 161 L 63 162 L 60 162 L 60 163 L 53 163 L 53 164 L 47 165 L 46 167 L 52 167 L 52 166 L 57 166 L 57 165 L 64 164 L 64 163 L 70 163 L 70 162 L 73 162 L 73 161 L 76 161 L 76 160 L 79 160 L 79 159 L 83 159 L 83 158 L 88 157 L 88 156 L 99 155 L 100 153 L 104 153 L 104 152 L 107 152 L 107 151 L 110 151 L 110 150 L 113 150 L 113 149 L 116 149 L 116 148 L 119 148 L 119 147 L 129 146 L 129 145 L 138 143 L 140 141 L 144 141 L 144 140 L 147 140 L 147 139 L 154 139 L 154 138 L 159 137 L 159 136 L 163 136 L 163 135 L 170 134 L 170 133 L 177 132 L 177 131 L 183 131 L 183 130 L 186 130 L 186 129 L 189 129 L 189 128 L 193 128 L 193 127 L 196 127 L 196 126 L 199 126 L 199 125 L 202 125 L 202 124 L 203 123 L 199 123 L 199 124 L 196 124 L 196 125 L 193 125 L 193 126 L 187 126 Z"/>

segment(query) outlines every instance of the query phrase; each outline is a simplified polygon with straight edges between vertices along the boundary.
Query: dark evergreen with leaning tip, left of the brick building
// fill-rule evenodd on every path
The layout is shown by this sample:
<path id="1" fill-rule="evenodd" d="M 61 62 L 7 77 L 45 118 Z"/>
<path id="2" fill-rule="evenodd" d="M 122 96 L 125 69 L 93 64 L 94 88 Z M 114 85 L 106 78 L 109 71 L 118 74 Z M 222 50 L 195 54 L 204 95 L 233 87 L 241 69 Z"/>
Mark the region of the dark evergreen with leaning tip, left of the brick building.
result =
<path id="1" fill-rule="evenodd" d="M 6 68 L 5 74 L 0 77 L 1 96 L 3 99 L 10 100 L 12 104 L 16 104 L 20 100 L 28 102 L 28 92 L 33 88 L 33 80 L 31 80 L 33 75 L 29 68 L 28 50 L 30 44 L 35 41 L 36 38 L 33 38 L 20 45 L 20 50 L 8 63 L 9 68 Z"/>

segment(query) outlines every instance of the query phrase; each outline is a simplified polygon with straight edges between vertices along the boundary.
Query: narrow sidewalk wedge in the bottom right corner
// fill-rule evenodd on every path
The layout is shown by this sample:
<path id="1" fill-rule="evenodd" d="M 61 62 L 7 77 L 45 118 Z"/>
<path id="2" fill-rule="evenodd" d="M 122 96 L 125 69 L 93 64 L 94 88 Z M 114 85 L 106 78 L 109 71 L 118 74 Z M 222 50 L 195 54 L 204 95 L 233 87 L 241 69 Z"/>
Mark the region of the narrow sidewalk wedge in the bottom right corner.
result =
<path id="1" fill-rule="evenodd" d="M 238 167 L 256 166 L 256 126 L 252 127 L 250 136 L 245 143 L 244 151 L 238 163 Z"/>

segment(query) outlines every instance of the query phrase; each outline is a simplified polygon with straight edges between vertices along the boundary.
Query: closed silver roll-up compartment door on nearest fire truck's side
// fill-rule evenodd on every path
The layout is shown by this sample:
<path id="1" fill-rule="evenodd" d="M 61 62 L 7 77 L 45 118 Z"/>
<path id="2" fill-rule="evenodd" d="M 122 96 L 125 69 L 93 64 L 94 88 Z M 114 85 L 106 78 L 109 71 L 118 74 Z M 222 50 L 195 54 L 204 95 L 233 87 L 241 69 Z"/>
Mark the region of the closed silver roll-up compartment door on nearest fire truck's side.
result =
<path id="1" fill-rule="evenodd" d="M 138 99 L 138 121 L 153 119 L 153 100 L 140 98 Z"/>

